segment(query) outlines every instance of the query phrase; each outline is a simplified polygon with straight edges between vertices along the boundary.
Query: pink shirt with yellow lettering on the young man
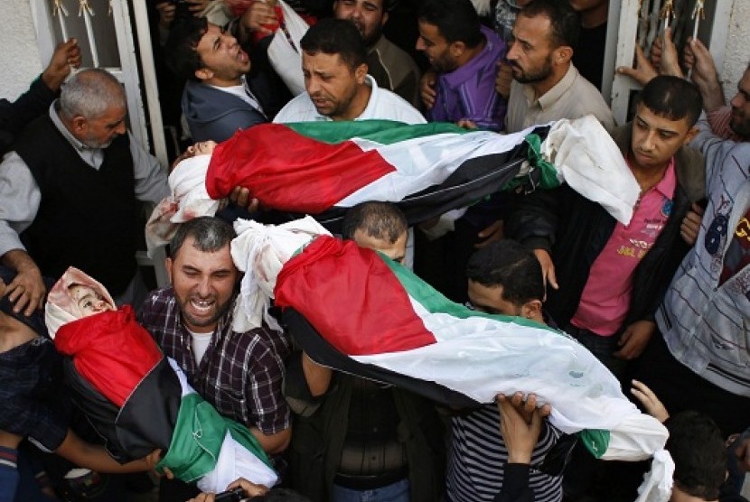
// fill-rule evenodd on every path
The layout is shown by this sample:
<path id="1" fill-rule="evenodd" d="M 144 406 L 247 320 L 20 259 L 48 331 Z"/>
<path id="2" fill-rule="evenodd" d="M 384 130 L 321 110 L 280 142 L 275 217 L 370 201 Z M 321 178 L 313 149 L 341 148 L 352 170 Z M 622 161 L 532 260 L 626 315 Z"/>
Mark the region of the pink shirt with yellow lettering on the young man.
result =
<path id="1" fill-rule="evenodd" d="M 605 337 L 620 329 L 630 307 L 633 272 L 666 225 L 676 186 L 672 158 L 661 181 L 635 203 L 630 224 L 617 222 L 596 256 L 571 324 Z"/>

